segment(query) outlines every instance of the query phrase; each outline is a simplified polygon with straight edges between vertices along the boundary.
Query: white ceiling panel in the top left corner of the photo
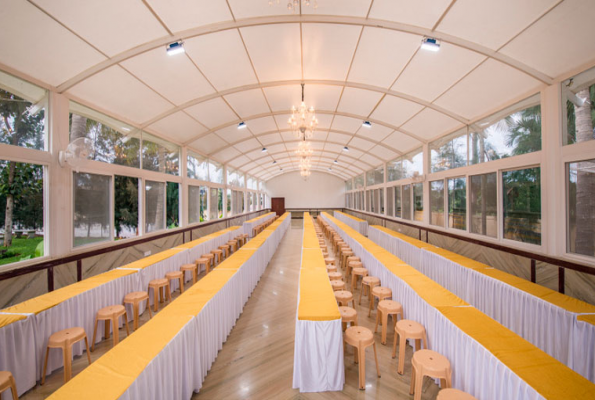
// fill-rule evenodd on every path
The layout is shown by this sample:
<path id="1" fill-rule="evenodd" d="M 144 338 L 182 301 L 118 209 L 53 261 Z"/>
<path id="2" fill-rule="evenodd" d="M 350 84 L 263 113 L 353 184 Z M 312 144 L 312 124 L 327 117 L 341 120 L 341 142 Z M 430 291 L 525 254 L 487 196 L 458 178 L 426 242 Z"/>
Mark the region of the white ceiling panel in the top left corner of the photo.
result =
<path id="1" fill-rule="evenodd" d="M 105 60 L 91 46 L 26 1 L 3 2 L 0 26 L 4 32 L 0 34 L 0 62 L 50 85 L 58 86 Z"/>

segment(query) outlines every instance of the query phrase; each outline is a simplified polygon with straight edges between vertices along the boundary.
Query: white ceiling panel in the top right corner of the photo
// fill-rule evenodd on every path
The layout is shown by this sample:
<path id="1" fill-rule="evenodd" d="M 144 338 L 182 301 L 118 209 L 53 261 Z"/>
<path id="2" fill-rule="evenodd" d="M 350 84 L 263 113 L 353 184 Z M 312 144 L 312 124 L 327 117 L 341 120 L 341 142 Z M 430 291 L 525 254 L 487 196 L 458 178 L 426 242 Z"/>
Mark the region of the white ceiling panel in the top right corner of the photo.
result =
<path id="1" fill-rule="evenodd" d="M 595 1 L 566 0 L 501 51 L 551 77 L 593 60 Z"/>

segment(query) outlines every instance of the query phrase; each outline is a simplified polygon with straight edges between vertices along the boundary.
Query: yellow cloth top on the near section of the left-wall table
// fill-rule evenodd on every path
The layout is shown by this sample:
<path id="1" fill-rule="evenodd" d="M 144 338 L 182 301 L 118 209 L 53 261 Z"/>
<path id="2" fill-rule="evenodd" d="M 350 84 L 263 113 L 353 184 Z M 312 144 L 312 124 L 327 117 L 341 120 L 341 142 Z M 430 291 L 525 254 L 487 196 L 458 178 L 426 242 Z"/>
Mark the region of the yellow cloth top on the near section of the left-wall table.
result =
<path id="1" fill-rule="evenodd" d="M 18 314 L 39 314 L 40 312 L 55 307 L 63 301 L 66 301 L 71 297 L 84 293 L 87 290 L 94 289 L 98 286 L 106 284 L 107 282 L 113 281 L 114 279 L 118 279 L 123 276 L 135 273 L 136 271 L 113 269 L 111 271 L 104 272 L 103 274 L 95 275 L 90 278 L 84 279 L 80 282 L 74 283 L 72 285 L 68 285 L 58 290 L 54 290 L 53 292 L 34 297 L 30 300 L 24 301 L 12 307 L 8 307 L 2 310 L 2 312 Z"/>

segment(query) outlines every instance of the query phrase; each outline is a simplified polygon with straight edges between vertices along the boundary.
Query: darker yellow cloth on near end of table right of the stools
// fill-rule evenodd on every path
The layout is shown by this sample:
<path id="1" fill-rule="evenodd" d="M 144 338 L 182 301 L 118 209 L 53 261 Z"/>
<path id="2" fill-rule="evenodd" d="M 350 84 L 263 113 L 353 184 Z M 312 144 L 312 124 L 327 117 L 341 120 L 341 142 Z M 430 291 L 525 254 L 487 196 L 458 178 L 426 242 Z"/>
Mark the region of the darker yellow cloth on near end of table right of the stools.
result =
<path id="1" fill-rule="evenodd" d="M 473 307 L 440 307 L 475 339 L 546 399 L 591 399 L 595 385 Z"/>

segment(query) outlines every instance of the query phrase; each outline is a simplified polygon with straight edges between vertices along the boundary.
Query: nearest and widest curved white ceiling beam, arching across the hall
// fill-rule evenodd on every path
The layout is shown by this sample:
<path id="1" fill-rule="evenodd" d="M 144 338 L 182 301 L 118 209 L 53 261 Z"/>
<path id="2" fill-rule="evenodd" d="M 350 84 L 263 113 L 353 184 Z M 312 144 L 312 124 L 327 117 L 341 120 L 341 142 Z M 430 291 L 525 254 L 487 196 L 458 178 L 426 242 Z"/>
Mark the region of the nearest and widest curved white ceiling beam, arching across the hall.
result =
<path id="1" fill-rule="evenodd" d="M 420 36 L 430 36 L 439 39 L 443 42 L 450 43 L 467 50 L 474 51 L 484 56 L 498 60 L 504 64 L 507 64 L 525 74 L 542 81 L 548 85 L 553 83 L 553 79 L 546 74 L 529 67 L 526 64 L 512 58 L 505 56 L 504 54 L 498 53 L 488 47 L 482 46 L 478 43 L 471 42 L 465 39 L 461 39 L 457 36 L 448 35 L 445 33 L 432 31 L 431 29 L 422 28 L 419 26 L 407 25 L 399 22 L 384 21 L 379 19 L 362 18 L 362 17 L 346 17 L 346 16 L 332 16 L 332 15 L 275 15 L 267 17 L 256 17 L 246 18 L 237 21 L 226 21 L 216 24 L 204 25 L 185 31 L 177 32 L 173 36 L 164 36 L 162 38 L 153 40 L 151 42 L 144 43 L 135 48 L 128 49 L 116 56 L 100 62 L 93 67 L 81 72 L 73 78 L 67 80 L 58 86 L 58 92 L 64 92 L 81 81 L 116 65 L 122 61 L 125 61 L 136 55 L 145 53 L 158 47 L 162 47 L 171 43 L 175 39 L 189 39 L 196 36 L 208 35 L 210 33 L 225 31 L 229 29 L 238 29 L 258 25 L 274 25 L 274 24 L 286 24 L 286 23 L 325 23 L 325 24 L 341 24 L 341 25 L 357 25 L 364 27 L 382 28 L 393 31 L 399 31 L 404 33 L 411 33 Z"/>

